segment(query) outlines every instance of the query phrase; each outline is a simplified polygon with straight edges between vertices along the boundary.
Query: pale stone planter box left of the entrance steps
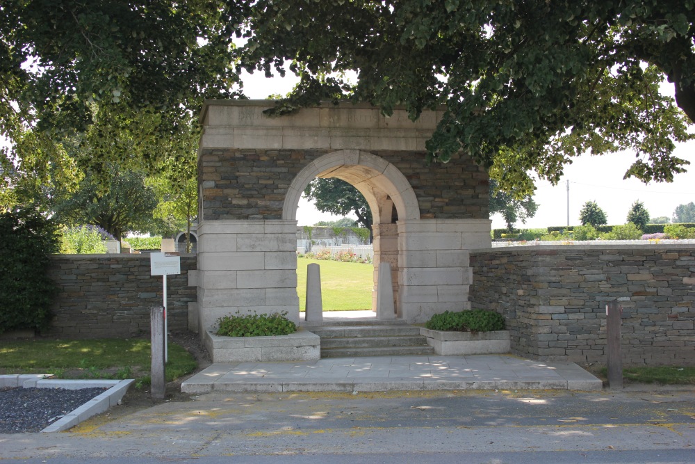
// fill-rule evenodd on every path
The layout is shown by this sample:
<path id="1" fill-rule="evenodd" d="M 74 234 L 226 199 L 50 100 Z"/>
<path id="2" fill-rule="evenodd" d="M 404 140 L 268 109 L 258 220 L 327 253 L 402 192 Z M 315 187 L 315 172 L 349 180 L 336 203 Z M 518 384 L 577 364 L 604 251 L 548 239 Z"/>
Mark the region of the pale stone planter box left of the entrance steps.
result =
<path id="1" fill-rule="evenodd" d="M 277 337 L 222 337 L 206 331 L 213 362 L 308 361 L 321 358 L 321 338 L 301 328 Z"/>

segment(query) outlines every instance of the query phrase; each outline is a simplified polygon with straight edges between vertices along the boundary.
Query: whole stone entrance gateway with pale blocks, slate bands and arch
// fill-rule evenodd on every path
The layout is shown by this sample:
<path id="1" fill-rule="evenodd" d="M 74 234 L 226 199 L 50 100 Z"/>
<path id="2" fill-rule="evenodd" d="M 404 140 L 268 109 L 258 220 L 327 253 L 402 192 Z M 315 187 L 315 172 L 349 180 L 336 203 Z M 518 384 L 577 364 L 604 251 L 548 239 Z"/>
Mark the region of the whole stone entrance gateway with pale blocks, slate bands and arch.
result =
<path id="1" fill-rule="evenodd" d="M 468 250 L 490 246 L 488 177 L 464 155 L 425 164 L 440 112 L 412 122 L 368 105 L 324 104 L 270 118 L 268 101 L 209 101 L 201 116 L 199 328 L 227 314 L 299 320 L 297 205 L 314 177 L 354 185 L 373 211 L 375 289 L 392 269 L 396 315 L 469 309 Z M 375 301 L 375 292 L 373 300 Z M 324 310 L 330 310 L 325 307 Z"/>

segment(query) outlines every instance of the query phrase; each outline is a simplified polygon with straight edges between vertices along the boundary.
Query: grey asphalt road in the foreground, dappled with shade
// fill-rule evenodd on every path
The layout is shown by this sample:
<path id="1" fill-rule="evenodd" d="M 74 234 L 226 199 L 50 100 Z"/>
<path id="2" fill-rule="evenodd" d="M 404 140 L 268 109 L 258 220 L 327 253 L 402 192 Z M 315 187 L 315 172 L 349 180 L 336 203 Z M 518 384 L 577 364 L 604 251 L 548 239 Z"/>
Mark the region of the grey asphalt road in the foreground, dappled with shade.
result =
<path id="1" fill-rule="evenodd" d="M 67 433 L 0 435 L 3 462 L 695 463 L 695 394 L 206 394 Z M 116 418 L 114 418 L 116 417 Z"/>

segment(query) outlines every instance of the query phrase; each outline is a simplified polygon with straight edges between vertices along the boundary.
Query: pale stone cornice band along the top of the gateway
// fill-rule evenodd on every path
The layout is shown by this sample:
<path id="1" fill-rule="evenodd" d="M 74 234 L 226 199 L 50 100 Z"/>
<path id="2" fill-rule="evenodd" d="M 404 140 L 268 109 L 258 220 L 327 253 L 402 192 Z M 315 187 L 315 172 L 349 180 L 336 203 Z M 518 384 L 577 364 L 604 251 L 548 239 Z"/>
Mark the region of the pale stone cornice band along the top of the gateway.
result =
<path id="1" fill-rule="evenodd" d="M 200 148 L 424 151 L 444 112 L 423 111 L 413 122 L 404 109 L 386 117 L 368 104 L 343 103 L 285 116 L 263 114 L 272 105 L 271 100 L 206 101 Z"/>

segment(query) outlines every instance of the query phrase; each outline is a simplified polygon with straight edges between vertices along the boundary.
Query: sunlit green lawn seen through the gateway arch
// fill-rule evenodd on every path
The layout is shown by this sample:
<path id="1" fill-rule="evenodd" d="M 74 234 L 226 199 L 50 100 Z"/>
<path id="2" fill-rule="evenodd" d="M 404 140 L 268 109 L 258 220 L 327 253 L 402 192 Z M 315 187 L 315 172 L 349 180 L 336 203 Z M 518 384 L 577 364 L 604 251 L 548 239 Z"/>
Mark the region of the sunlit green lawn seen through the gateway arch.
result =
<path id="1" fill-rule="evenodd" d="M 300 311 L 306 305 L 306 265 L 321 266 L 321 298 L 324 311 L 372 309 L 373 264 L 297 258 L 297 294 Z"/>

